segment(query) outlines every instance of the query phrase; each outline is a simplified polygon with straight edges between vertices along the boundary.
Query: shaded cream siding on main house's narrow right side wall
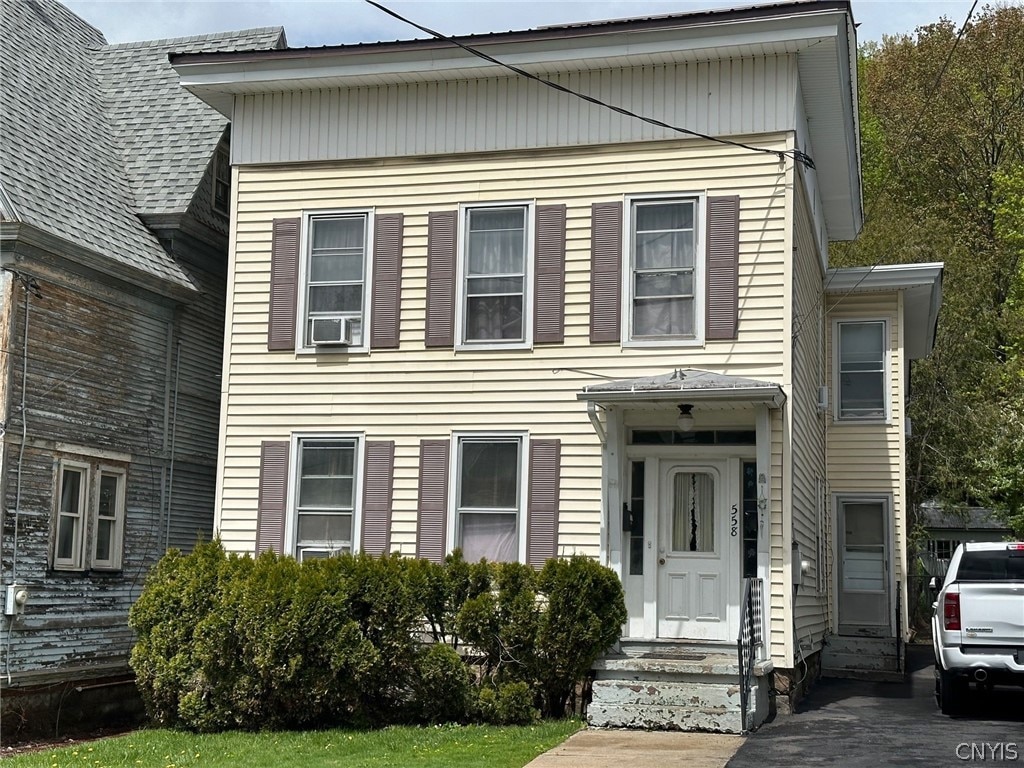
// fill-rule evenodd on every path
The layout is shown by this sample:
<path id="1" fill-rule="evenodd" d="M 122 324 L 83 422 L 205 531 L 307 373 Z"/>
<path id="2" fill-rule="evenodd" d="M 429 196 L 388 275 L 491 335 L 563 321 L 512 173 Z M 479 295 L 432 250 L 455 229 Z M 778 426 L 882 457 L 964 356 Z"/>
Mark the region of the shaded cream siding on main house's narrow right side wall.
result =
<path id="1" fill-rule="evenodd" d="M 821 254 L 817 246 L 813 220 L 805 188 L 797 185 L 796 229 L 794 249 L 794 335 L 793 398 L 790 413 L 793 420 L 793 452 L 791 460 L 792 543 L 800 546 L 802 559 L 811 563 L 811 572 L 804 575 L 794 600 L 796 647 L 811 643 L 820 648 L 827 630 L 827 594 L 818 594 L 818 562 L 816 525 L 818 488 L 825 476 L 824 415 L 818 410 L 818 387 L 824 383 L 825 344 L 822 339 Z M 824 535 L 825 531 L 822 531 Z M 791 546 L 792 546 L 791 543 Z M 792 589 L 792 585 L 791 585 Z"/>

